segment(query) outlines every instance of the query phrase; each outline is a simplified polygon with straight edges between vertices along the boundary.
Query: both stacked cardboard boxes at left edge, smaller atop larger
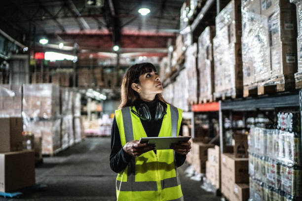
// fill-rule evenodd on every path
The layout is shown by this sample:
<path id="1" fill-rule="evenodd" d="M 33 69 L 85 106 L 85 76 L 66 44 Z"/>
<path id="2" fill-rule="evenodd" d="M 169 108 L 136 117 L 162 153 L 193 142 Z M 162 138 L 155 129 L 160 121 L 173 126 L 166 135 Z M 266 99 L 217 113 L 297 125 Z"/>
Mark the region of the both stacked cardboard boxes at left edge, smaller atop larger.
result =
<path id="1" fill-rule="evenodd" d="M 35 184 L 35 153 L 23 151 L 22 118 L 0 118 L 0 192 Z"/>

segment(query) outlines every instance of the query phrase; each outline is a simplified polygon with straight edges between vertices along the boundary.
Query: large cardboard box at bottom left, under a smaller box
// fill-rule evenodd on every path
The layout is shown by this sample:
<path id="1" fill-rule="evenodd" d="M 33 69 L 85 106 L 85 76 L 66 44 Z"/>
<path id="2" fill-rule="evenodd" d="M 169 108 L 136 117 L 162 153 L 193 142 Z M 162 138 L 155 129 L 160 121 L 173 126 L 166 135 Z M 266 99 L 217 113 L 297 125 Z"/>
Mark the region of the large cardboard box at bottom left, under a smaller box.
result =
<path id="1" fill-rule="evenodd" d="M 0 192 L 9 192 L 34 184 L 34 151 L 0 153 Z"/>

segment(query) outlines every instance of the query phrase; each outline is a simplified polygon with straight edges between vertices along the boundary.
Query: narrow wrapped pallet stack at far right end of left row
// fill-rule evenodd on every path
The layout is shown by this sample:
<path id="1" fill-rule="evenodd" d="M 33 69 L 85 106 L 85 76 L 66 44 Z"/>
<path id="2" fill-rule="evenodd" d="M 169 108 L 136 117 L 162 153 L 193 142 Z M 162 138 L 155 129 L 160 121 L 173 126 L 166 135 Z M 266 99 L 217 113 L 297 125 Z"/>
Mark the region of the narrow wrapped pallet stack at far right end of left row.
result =
<path id="1" fill-rule="evenodd" d="M 74 93 L 73 96 L 73 116 L 74 116 L 74 133 L 75 133 L 75 142 L 78 143 L 82 140 L 83 129 L 81 121 L 81 94 Z"/>

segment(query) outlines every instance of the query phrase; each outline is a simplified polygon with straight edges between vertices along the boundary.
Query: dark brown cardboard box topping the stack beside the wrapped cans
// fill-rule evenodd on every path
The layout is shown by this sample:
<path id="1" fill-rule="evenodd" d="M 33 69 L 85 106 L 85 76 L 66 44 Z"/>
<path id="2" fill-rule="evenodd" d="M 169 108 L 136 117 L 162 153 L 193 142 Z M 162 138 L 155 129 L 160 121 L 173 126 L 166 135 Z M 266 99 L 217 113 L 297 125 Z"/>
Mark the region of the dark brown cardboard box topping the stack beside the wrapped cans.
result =
<path id="1" fill-rule="evenodd" d="M 234 134 L 234 154 L 235 158 L 248 158 L 248 140 L 246 134 Z"/>

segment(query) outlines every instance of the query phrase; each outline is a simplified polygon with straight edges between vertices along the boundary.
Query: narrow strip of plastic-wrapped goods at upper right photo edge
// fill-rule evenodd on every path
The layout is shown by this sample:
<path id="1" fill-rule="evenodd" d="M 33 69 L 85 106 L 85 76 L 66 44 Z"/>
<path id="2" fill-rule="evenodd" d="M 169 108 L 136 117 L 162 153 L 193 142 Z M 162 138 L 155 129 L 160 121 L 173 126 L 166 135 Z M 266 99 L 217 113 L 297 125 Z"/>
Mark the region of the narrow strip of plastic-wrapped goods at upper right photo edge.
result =
<path id="1" fill-rule="evenodd" d="M 296 88 L 302 88 L 302 1 L 291 0 L 296 4 L 297 8 L 297 25 L 298 25 L 298 37 L 297 37 L 297 50 L 298 50 L 298 72 L 295 74 Z"/>

